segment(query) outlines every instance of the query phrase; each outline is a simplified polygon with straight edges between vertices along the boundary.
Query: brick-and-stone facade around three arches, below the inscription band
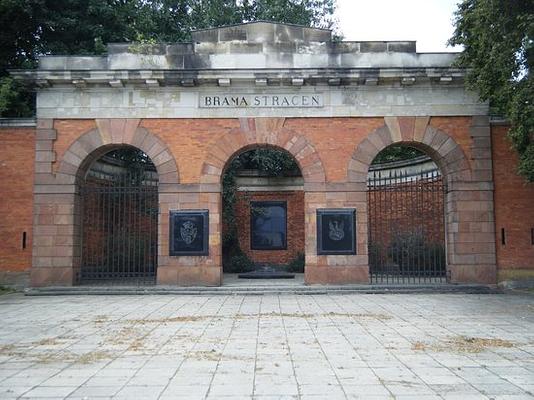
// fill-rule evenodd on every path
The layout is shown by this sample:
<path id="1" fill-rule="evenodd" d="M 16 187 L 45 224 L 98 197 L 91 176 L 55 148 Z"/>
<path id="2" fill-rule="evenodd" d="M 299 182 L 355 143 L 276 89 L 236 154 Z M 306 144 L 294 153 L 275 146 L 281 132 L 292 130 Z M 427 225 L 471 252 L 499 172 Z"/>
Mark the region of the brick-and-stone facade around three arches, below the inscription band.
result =
<path id="1" fill-rule="evenodd" d="M 432 149 L 433 155 L 439 159 L 438 164 L 450 170 L 448 178 L 458 183 L 457 197 L 449 196 L 450 204 L 447 204 L 449 261 L 454 267 L 451 279 L 457 282 L 495 281 L 490 128 L 484 116 L 141 121 L 43 119 L 38 121 L 38 126 L 37 145 L 41 151 L 36 156 L 36 169 L 40 172 L 36 175 L 39 206 L 36 210 L 38 218 L 48 220 L 39 222 L 35 230 L 34 266 L 37 268 L 34 270 L 41 270 L 35 273 L 32 270 L 36 285 L 71 284 L 79 247 L 75 240 L 65 246 L 64 251 L 56 252 L 54 247 L 59 239 L 75 237 L 72 231 L 77 232 L 76 214 L 72 211 L 75 209 L 73 177 L 81 160 L 87 158 L 87 152 L 102 144 L 117 146 L 123 143 L 145 151 L 161 173 L 160 283 L 220 284 L 219 185 L 227 161 L 239 151 L 258 143 L 287 149 L 298 160 L 306 182 L 305 210 L 308 215 L 315 215 L 317 208 L 355 207 L 357 220 L 367 221 L 367 165 L 384 145 L 400 141 L 420 142 L 424 144 L 422 147 Z M 84 140 L 77 141 L 82 134 Z M 57 171 L 57 176 L 51 171 Z M 50 210 L 47 211 L 49 215 L 39 213 L 45 208 Z M 60 208 L 68 213 L 60 214 Z M 190 208 L 210 211 L 210 254 L 205 257 L 169 257 L 168 212 Z M 50 217 L 54 217 L 53 224 Z M 308 232 L 305 238 L 308 283 L 367 281 L 366 223 L 358 226 L 357 254 L 336 257 L 316 255 L 315 219 L 306 218 L 304 224 Z"/>

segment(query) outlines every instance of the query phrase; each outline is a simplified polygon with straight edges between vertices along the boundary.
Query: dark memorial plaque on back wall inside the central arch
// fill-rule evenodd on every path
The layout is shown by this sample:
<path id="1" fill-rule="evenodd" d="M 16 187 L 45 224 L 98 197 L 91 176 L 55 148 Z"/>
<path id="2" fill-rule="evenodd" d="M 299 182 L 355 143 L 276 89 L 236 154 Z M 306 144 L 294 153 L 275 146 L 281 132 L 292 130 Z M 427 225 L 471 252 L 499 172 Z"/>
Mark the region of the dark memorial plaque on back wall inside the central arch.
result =
<path id="1" fill-rule="evenodd" d="M 287 204 L 285 201 L 250 202 L 250 247 L 253 250 L 287 248 Z"/>

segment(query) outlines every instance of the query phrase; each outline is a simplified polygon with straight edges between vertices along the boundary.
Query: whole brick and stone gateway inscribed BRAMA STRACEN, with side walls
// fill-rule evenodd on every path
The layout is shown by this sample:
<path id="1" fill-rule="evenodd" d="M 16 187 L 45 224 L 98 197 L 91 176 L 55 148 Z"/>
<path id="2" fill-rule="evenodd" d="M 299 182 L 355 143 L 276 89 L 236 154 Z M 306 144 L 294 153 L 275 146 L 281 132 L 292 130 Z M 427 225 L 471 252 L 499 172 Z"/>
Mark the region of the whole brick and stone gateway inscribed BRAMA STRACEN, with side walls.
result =
<path id="1" fill-rule="evenodd" d="M 534 189 L 515 176 L 507 128 L 466 91 L 454 54 L 265 22 L 192 39 L 12 72 L 37 87 L 37 119 L 0 127 L 4 281 L 29 272 L 33 286 L 79 283 L 81 188 L 101 156 L 131 147 L 157 173 L 157 283 L 221 285 L 221 176 L 235 155 L 271 146 L 302 173 L 306 283 L 368 283 L 368 170 L 392 144 L 422 150 L 446 183 L 449 282 L 533 277 Z M 318 249 L 328 210 L 352 213 L 350 251 Z"/>

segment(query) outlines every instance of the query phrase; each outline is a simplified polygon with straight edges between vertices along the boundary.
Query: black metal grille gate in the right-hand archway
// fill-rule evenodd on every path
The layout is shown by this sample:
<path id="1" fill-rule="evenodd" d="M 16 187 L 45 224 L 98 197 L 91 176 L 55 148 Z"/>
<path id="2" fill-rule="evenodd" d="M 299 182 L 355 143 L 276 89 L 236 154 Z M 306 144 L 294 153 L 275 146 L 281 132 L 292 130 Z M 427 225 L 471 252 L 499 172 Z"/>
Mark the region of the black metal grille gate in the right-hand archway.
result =
<path id="1" fill-rule="evenodd" d="M 439 171 L 370 172 L 367 188 L 371 282 L 445 282 L 446 188 Z"/>

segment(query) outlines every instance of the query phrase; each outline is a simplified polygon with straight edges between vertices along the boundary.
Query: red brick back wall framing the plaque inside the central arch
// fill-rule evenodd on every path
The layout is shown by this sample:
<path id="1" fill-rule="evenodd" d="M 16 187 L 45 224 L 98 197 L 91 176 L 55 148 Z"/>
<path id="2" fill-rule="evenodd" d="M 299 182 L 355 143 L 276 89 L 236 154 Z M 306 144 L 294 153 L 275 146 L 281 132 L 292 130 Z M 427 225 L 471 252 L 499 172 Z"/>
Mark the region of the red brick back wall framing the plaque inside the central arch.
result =
<path id="1" fill-rule="evenodd" d="M 250 202 L 287 202 L 287 249 L 252 250 L 250 248 Z M 285 264 L 293 260 L 297 253 L 304 253 L 304 192 L 238 192 L 236 202 L 236 222 L 239 245 L 254 262 Z"/>

